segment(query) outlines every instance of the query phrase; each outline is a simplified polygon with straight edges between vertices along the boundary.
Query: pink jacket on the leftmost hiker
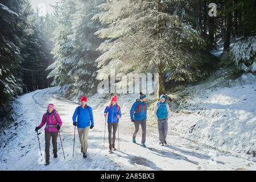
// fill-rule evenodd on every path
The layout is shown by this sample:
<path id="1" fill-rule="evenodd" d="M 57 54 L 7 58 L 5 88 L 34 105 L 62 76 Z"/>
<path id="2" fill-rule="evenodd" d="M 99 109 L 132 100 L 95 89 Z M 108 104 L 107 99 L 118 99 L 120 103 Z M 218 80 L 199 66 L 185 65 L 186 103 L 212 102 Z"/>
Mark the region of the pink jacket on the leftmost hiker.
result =
<path id="1" fill-rule="evenodd" d="M 40 129 L 46 123 L 46 127 L 44 128 L 44 131 L 48 131 L 48 132 L 58 131 L 55 125 L 59 125 L 61 127 L 62 121 L 60 119 L 60 115 L 56 112 L 56 110 L 53 110 L 53 113 L 50 114 L 50 115 L 47 114 L 47 118 L 46 118 L 46 114 L 47 113 L 44 113 L 44 115 L 43 115 L 42 122 L 39 125 Z M 55 114 L 57 121 L 55 121 L 53 114 Z"/>

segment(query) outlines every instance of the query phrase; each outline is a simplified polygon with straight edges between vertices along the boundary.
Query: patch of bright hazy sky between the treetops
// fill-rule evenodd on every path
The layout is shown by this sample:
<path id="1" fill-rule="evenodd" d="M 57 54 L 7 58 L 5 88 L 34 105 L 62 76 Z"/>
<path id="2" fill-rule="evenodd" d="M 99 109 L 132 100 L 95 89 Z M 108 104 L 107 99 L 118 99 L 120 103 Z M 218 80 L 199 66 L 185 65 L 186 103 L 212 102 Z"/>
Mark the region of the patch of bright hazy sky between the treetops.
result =
<path id="1" fill-rule="evenodd" d="M 30 0 L 32 9 L 36 10 L 36 7 L 39 7 L 39 16 L 45 16 L 48 12 L 51 14 L 53 9 L 49 5 L 55 5 L 57 0 Z"/>

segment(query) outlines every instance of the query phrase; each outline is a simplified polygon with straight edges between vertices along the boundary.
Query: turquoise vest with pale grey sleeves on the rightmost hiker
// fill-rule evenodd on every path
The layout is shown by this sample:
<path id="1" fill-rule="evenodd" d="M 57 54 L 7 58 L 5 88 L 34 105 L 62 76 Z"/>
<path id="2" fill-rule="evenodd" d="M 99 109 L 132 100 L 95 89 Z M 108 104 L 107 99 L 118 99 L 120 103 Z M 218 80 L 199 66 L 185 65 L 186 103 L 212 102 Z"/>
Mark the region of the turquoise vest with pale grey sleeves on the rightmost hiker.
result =
<path id="1" fill-rule="evenodd" d="M 157 102 L 154 108 L 154 116 L 156 120 L 158 119 L 167 119 L 170 115 L 170 107 L 166 101 L 163 103 L 161 101 Z"/>

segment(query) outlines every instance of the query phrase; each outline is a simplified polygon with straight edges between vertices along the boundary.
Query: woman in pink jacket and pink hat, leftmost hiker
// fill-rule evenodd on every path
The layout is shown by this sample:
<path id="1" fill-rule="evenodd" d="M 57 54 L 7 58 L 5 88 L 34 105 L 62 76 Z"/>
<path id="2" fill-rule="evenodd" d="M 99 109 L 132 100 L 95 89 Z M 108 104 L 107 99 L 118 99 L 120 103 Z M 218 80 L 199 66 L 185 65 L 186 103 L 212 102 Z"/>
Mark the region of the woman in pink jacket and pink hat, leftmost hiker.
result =
<path id="1" fill-rule="evenodd" d="M 60 115 L 54 109 L 53 104 L 48 105 L 47 112 L 44 113 L 42 122 L 38 127 L 35 128 L 35 131 L 38 132 L 40 128 L 42 128 L 46 124 L 44 128 L 45 138 L 46 138 L 46 163 L 44 165 L 49 164 L 49 146 L 50 140 L 52 137 L 52 145 L 53 145 L 53 157 L 57 158 L 57 137 L 58 137 L 58 130 L 62 125 Z"/>

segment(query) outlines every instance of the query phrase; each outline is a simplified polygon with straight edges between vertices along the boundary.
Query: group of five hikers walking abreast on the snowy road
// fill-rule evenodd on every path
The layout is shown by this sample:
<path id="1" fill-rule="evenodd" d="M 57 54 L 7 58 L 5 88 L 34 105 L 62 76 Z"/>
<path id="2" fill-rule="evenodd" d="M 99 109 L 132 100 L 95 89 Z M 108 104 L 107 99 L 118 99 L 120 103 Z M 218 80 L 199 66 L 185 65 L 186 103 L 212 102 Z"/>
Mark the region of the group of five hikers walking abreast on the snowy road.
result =
<path id="1" fill-rule="evenodd" d="M 136 136 L 139 131 L 139 125 L 142 128 L 142 147 L 146 147 L 146 120 L 147 120 L 147 103 L 146 103 L 146 94 L 142 92 L 139 93 L 139 98 L 134 102 L 130 109 L 130 118 L 131 122 L 134 123 L 135 131 L 133 133 L 133 142 L 136 143 Z M 160 96 L 160 101 L 156 103 L 154 107 L 154 116 L 156 121 L 158 121 L 158 130 L 159 130 L 159 144 L 164 146 L 167 144 L 166 137 L 168 131 L 168 118 L 170 115 L 170 108 L 168 103 L 166 102 L 167 97 L 162 94 Z M 94 120 L 93 120 L 93 110 L 92 107 L 86 104 L 87 98 L 85 96 L 81 97 L 81 105 L 76 107 L 76 110 L 73 114 L 72 121 L 73 126 L 75 126 L 75 131 L 77 127 L 77 131 L 79 133 L 79 140 L 81 146 L 81 152 L 83 154 L 83 158 L 87 157 L 87 148 L 88 148 L 88 133 L 89 129 L 93 129 Z M 121 107 L 117 104 L 117 95 L 114 95 L 111 98 L 110 104 L 105 107 L 104 110 L 105 116 L 105 127 L 106 127 L 106 118 L 108 117 L 108 132 L 109 132 L 109 152 L 116 150 L 115 148 L 115 135 L 118 130 L 119 119 L 121 118 Z M 60 128 L 62 125 L 60 115 L 54 109 L 53 104 L 49 104 L 47 108 L 47 112 L 43 114 L 42 122 L 38 127 L 35 128 L 36 133 L 46 124 L 44 129 L 45 131 L 45 160 L 44 165 L 49 164 L 49 146 L 50 140 L 52 137 L 52 145 L 53 145 L 53 158 L 57 158 L 57 136 L 58 133 L 60 135 Z M 119 136 L 118 136 L 119 137 Z M 60 138 L 61 139 L 61 138 Z M 61 141 L 61 140 L 60 140 Z M 104 133 L 104 142 L 105 142 L 105 133 Z M 62 146 L 62 143 L 61 143 Z M 39 143 L 40 147 L 40 143 Z M 74 133 L 74 146 L 75 147 L 75 133 Z M 74 149 L 73 149 L 74 150 Z M 64 153 L 64 151 L 63 151 Z M 64 155 L 65 158 L 65 155 Z"/>

